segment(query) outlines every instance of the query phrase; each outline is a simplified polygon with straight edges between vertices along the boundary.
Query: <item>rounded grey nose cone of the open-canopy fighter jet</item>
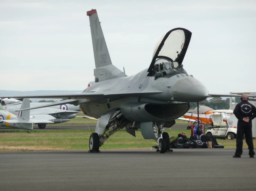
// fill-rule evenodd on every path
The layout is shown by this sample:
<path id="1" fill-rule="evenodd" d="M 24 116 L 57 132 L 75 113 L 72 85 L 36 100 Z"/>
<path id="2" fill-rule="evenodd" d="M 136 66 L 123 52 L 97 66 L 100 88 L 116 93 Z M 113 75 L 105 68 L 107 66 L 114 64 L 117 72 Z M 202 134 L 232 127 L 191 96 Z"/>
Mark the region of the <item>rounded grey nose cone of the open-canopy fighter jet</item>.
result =
<path id="1" fill-rule="evenodd" d="M 176 82 L 173 88 L 174 101 L 200 102 L 208 97 L 208 90 L 195 79 L 184 78 Z"/>

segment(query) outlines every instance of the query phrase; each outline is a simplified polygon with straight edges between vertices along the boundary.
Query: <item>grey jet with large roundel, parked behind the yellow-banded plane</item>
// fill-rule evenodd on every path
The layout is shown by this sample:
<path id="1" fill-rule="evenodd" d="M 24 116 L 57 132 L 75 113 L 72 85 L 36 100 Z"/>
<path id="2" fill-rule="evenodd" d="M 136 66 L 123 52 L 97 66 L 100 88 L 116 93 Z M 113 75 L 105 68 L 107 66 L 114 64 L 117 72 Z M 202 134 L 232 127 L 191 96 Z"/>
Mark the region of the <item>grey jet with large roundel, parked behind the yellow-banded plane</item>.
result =
<path id="1" fill-rule="evenodd" d="M 5 110 L 9 111 L 10 113 L 13 113 L 15 115 L 18 115 L 18 110 L 21 106 L 21 101 L 17 99 L 2 99 L 1 104 L 5 108 Z M 45 103 L 38 103 L 38 102 L 32 102 L 30 105 L 32 107 L 35 106 L 41 106 Z M 76 113 L 80 111 L 79 106 L 71 105 L 71 104 L 62 104 L 62 105 L 56 105 L 52 107 L 47 108 L 38 108 L 30 111 L 30 115 L 39 115 L 39 114 L 48 114 L 53 116 L 54 118 L 51 119 L 53 123 L 63 123 L 70 121 L 70 119 L 76 117 Z M 38 127 L 40 129 L 44 129 L 46 127 L 47 123 L 36 123 L 38 124 Z"/>

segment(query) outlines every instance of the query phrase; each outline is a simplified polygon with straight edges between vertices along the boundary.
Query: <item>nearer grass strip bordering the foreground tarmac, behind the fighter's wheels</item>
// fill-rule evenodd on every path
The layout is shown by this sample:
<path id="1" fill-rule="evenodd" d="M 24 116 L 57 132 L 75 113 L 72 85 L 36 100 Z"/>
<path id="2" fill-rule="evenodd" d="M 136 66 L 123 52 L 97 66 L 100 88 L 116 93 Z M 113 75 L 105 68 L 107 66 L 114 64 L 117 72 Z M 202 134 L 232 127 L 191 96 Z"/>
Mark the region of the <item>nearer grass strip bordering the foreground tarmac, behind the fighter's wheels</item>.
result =
<path id="1" fill-rule="evenodd" d="M 37 150 L 88 150 L 91 130 L 57 131 L 0 131 L 0 151 L 37 151 Z M 177 136 L 180 130 L 166 130 L 171 136 Z M 184 130 L 189 135 L 189 130 Z M 236 140 L 220 140 L 225 148 L 235 147 Z M 244 143 L 246 145 L 246 143 Z M 136 138 L 126 131 L 118 131 L 111 136 L 100 149 L 152 148 L 154 140 L 144 140 L 141 132 Z M 256 140 L 254 140 L 256 146 Z M 245 147 L 246 148 L 246 147 Z"/>

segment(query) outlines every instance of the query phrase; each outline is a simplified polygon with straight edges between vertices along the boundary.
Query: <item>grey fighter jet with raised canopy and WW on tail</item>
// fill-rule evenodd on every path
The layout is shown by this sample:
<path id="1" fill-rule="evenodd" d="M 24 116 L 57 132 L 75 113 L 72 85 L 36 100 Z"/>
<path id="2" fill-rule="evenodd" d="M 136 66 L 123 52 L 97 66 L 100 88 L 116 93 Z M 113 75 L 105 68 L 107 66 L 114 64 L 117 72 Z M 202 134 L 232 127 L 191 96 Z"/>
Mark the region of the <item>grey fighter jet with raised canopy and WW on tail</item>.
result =
<path id="1" fill-rule="evenodd" d="M 174 125 L 175 119 L 188 111 L 189 102 L 200 102 L 210 96 L 223 97 L 209 95 L 206 87 L 183 67 L 192 36 L 189 30 L 175 28 L 164 33 L 148 68 L 127 76 L 112 64 L 96 9 L 87 11 L 87 16 L 94 51 L 95 83 L 81 93 L 19 97 L 68 98 L 44 107 L 70 103 L 98 119 L 89 139 L 90 152 L 98 152 L 111 135 L 126 128 L 134 137 L 135 129 L 140 129 L 144 139 L 156 140 L 156 149 L 165 153 L 170 149 L 170 140 L 163 125 Z M 38 107 L 30 109 L 35 108 Z"/>

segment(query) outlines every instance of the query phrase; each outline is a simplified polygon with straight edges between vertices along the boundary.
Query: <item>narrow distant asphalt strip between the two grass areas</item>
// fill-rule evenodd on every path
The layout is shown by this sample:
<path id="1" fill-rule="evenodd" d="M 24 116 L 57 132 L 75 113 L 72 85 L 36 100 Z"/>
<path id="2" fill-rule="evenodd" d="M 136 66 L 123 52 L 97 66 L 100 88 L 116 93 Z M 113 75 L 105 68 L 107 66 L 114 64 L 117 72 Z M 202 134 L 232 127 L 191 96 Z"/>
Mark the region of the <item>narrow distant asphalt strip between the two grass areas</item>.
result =
<path id="1" fill-rule="evenodd" d="M 178 125 L 175 124 L 171 129 L 186 129 L 188 125 Z M 51 131 L 51 130 L 82 130 L 82 129 L 90 129 L 90 130 L 95 130 L 96 125 L 46 125 L 45 129 L 39 129 L 37 125 L 33 125 L 34 130 L 39 130 L 39 131 Z M 169 129 L 169 128 L 165 128 Z M 15 129 L 15 128 L 8 128 L 8 127 L 0 127 L 0 131 L 5 130 L 5 131 L 14 131 L 14 130 L 21 130 L 24 131 L 23 129 Z"/>

